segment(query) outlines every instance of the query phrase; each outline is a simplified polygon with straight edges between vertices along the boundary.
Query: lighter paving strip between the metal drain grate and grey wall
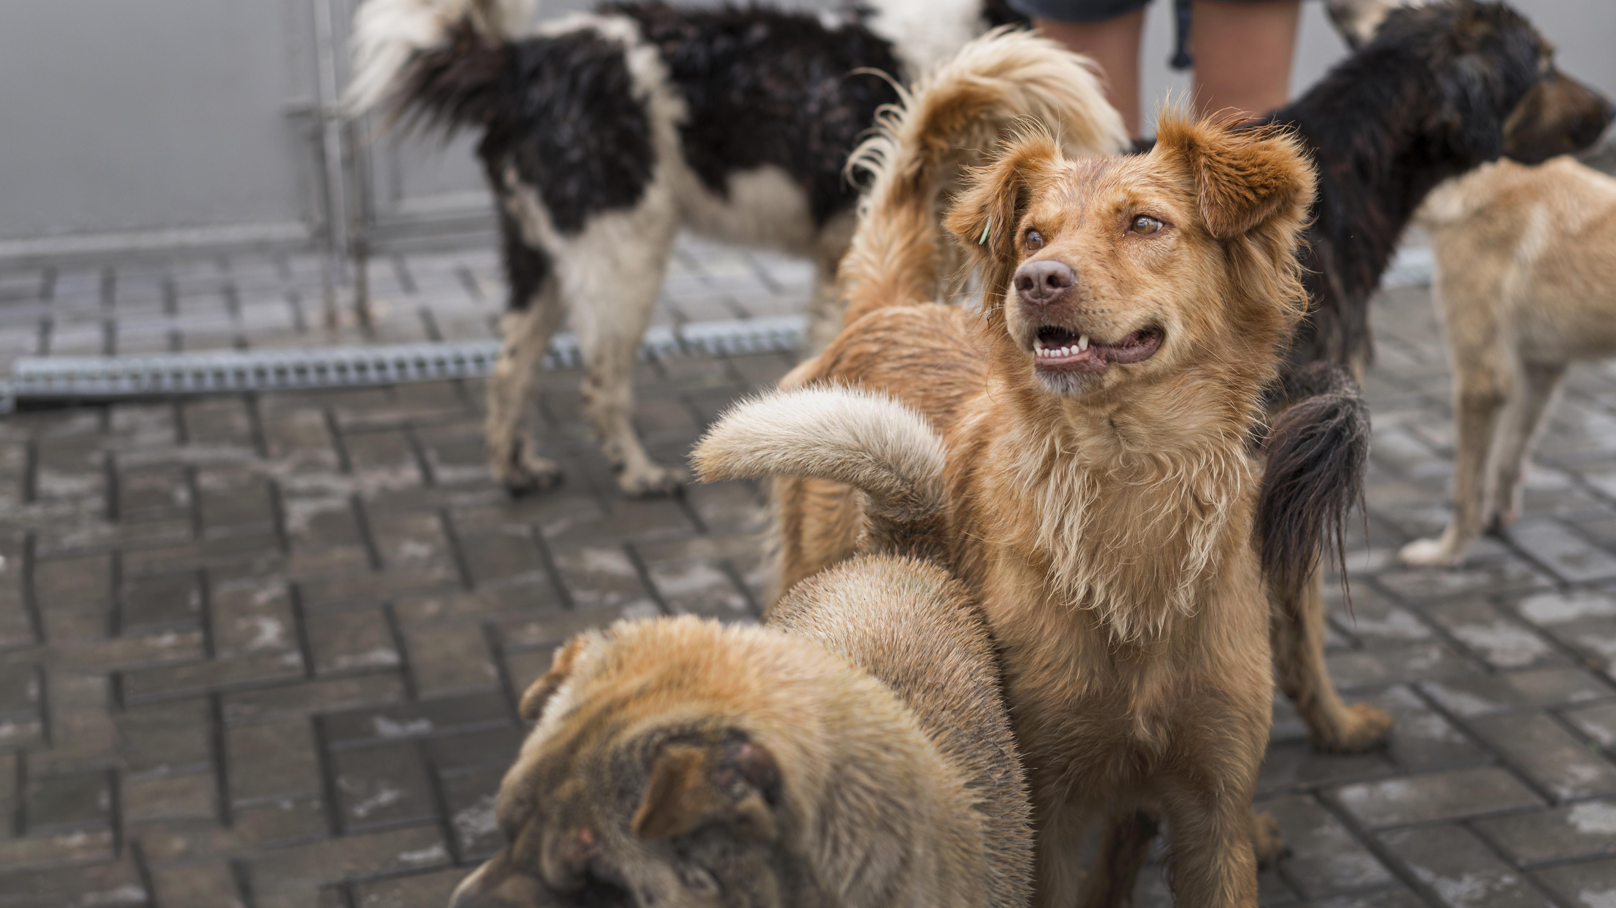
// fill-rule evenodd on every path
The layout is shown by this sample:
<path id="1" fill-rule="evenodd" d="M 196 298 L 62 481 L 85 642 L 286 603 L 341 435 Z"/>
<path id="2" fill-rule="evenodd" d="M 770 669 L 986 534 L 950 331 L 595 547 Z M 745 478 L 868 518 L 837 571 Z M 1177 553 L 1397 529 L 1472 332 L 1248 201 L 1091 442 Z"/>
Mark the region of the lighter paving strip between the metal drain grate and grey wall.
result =
<path id="1" fill-rule="evenodd" d="M 0 271 L 0 372 L 21 355 L 105 355 L 498 336 L 493 249 L 378 257 L 372 323 L 326 328 L 320 260 L 239 254 Z M 695 239 L 674 247 L 653 325 L 802 312 L 813 267 Z"/>

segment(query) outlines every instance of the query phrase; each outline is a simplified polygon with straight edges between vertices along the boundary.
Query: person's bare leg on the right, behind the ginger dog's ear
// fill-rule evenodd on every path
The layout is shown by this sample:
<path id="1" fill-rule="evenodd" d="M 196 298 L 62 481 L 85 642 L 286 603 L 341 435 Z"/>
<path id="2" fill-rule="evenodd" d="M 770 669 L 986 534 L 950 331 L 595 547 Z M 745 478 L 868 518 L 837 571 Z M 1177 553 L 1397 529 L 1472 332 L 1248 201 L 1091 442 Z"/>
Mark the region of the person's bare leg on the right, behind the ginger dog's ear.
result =
<path id="1" fill-rule="evenodd" d="M 1189 31 L 1196 108 L 1254 116 L 1283 107 L 1290 97 L 1299 13 L 1296 0 L 1196 0 Z"/>

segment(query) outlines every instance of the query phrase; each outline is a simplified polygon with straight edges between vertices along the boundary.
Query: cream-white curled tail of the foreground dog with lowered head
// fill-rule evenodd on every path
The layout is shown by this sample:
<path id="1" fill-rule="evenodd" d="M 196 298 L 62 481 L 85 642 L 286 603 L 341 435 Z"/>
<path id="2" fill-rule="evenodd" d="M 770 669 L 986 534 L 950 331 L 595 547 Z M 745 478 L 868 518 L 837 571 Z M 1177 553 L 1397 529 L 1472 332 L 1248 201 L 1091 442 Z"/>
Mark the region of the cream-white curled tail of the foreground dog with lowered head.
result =
<path id="1" fill-rule="evenodd" d="M 703 481 L 811 477 L 863 494 L 861 551 L 944 556 L 942 438 L 886 394 L 840 385 L 732 406 L 690 456 Z"/>

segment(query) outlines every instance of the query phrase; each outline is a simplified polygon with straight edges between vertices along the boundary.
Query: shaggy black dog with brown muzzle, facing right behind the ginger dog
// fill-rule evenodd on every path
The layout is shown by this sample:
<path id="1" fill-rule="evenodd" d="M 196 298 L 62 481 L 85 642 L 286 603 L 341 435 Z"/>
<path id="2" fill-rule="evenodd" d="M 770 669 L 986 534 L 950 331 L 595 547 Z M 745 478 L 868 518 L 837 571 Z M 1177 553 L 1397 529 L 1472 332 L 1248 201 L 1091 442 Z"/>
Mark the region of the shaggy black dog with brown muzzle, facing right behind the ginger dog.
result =
<path id="1" fill-rule="evenodd" d="M 1369 44 L 1264 121 L 1294 129 L 1319 165 L 1311 317 L 1291 370 L 1330 360 L 1362 376 L 1369 296 L 1432 187 L 1500 157 L 1538 163 L 1577 152 L 1611 113 L 1555 68 L 1550 45 L 1504 3 L 1391 10 Z"/>

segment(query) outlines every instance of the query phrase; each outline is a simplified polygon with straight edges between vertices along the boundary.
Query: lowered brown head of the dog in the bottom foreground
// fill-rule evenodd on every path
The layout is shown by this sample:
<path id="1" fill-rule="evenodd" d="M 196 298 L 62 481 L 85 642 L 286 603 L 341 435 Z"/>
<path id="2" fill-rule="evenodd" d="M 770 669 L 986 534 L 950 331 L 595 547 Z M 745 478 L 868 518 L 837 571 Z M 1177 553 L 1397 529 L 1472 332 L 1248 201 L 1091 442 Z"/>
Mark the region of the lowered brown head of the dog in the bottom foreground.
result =
<path id="1" fill-rule="evenodd" d="M 705 905 L 742 890 L 748 905 L 779 903 L 774 755 L 721 717 L 680 713 L 677 693 L 646 690 L 656 675 L 614 679 L 612 662 L 633 658 L 617 651 L 622 635 L 635 630 L 572 638 L 524 693 L 519 711 L 538 727 L 499 787 L 507 843 L 452 908 Z"/>

